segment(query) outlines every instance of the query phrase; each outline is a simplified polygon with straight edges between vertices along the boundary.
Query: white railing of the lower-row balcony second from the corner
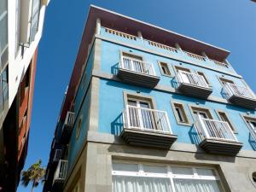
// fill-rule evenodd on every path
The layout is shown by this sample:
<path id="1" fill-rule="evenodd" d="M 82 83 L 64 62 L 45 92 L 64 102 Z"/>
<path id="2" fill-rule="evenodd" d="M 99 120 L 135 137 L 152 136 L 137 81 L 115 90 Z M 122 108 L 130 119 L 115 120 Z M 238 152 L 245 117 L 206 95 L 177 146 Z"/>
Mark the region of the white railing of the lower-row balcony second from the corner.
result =
<path id="1" fill-rule="evenodd" d="M 198 120 L 195 124 L 195 127 L 202 140 L 204 138 L 209 138 L 238 142 L 228 122 L 214 119 L 204 119 L 201 117 L 198 117 L 197 119 Z"/>

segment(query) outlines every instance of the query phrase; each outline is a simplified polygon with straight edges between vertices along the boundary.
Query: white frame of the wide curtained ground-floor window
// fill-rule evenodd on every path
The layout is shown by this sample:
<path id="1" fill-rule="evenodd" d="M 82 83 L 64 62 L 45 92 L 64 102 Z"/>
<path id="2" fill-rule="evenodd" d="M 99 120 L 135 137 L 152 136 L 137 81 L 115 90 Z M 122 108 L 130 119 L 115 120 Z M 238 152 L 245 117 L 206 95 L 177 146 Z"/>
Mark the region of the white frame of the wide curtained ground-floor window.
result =
<path id="1" fill-rule="evenodd" d="M 138 172 L 124 172 L 124 171 L 113 171 L 112 176 L 130 176 L 130 177 L 161 177 L 161 178 L 170 178 L 170 183 L 172 186 L 172 192 L 176 192 L 174 187 L 174 178 L 183 178 L 183 179 L 196 179 L 196 180 L 211 180 L 218 181 L 218 187 L 221 192 L 225 192 L 224 185 L 218 175 L 218 171 L 214 167 L 208 166 L 181 166 L 181 165 L 166 165 L 166 164 L 156 164 L 156 163 L 143 163 L 143 162 L 132 162 L 132 161 L 122 161 L 122 160 L 113 160 L 113 163 L 122 163 L 122 164 L 136 164 L 138 165 Z M 166 166 L 166 173 L 151 173 L 144 172 L 143 166 Z M 182 174 L 174 174 L 172 173 L 172 167 L 181 167 L 181 168 L 191 168 L 193 171 L 193 175 L 182 175 Z M 200 176 L 196 172 L 197 168 L 212 170 L 214 176 Z"/>

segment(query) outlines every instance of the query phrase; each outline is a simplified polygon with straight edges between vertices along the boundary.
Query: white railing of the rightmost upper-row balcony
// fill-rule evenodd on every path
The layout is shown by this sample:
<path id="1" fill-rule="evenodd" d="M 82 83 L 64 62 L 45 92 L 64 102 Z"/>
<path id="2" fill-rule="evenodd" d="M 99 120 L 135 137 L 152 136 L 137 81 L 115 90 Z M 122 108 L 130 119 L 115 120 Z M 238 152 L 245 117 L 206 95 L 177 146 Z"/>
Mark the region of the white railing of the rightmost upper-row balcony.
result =
<path id="1" fill-rule="evenodd" d="M 255 99 L 255 96 L 253 96 L 253 93 L 250 92 L 250 90 L 247 90 L 247 88 L 238 86 L 236 84 L 225 83 L 223 89 L 228 99 L 231 96 L 242 96 L 250 99 Z"/>

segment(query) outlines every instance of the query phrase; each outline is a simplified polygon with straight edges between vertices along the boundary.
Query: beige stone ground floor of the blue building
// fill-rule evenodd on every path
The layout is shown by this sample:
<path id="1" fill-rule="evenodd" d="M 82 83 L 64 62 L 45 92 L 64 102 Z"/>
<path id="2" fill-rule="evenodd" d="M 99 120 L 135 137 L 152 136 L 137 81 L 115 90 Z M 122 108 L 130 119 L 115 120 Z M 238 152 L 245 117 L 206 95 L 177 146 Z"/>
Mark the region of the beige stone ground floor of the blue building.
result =
<path id="1" fill-rule="evenodd" d="M 192 144 L 174 143 L 170 150 L 127 145 L 119 137 L 88 132 L 65 192 L 253 192 L 256 153 L 236 157 L 206 154 Z"/>

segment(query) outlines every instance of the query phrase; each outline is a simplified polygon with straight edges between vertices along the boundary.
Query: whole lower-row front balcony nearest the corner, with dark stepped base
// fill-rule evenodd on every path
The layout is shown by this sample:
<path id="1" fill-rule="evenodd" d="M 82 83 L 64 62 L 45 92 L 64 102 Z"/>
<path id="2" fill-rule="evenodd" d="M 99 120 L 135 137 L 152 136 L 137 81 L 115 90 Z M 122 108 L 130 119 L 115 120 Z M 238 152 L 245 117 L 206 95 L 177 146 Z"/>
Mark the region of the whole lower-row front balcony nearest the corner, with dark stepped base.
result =
<path id="1" fill-rule="evenodd" d="M 131 145 L 168 149 L 177 140 L 165 111 L 126 106 L 120 135 Z"/>

